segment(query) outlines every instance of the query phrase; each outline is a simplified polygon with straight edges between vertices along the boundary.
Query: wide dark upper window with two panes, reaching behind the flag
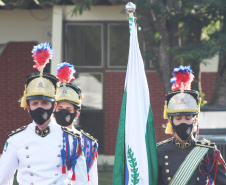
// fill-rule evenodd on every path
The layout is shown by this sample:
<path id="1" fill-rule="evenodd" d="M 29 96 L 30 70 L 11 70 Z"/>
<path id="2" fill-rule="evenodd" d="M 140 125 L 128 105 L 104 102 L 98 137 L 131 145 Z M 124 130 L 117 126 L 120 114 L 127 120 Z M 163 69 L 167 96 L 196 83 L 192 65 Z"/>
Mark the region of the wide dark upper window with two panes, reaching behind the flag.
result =
<path id="1" fill-rule="evenodd" d="M 125 70 L 128 62 L 129 37 L 127 21 L 65 23 L 65 61 L 79 68 Z M 144 40 L 139 29 L 138 41 L 142 54 Z"/>

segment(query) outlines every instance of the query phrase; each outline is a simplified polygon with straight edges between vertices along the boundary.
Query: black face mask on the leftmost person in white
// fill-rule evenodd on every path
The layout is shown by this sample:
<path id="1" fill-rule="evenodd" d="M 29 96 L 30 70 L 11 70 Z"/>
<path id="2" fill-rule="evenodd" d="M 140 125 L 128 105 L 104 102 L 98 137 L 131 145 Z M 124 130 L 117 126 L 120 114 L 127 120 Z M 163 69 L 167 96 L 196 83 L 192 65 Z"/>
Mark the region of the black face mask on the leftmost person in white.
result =
<path id="1" fill-rule="evenodd" d="M 50 109 L 43 109 L 42 107 L 39 107 L 35 110 L 30 110 L 30 115 L 35 123 L 43 125 L 53 113 L 53 108 L 53 105 Z"/>

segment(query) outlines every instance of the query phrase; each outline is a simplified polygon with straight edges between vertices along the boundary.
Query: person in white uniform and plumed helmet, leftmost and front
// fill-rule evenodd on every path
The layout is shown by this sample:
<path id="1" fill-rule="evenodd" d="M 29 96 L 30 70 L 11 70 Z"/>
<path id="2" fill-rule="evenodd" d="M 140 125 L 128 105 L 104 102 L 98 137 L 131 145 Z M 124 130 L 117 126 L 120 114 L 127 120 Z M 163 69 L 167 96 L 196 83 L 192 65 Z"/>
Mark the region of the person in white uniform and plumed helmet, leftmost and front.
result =
<path id="1" fill-rule="evenodd" d="M 0 159 L 0 184 L 12 185 L 15 171 L 20 185 L 87 185 L 86 162 L 82 156 L 80 135 L 56 124 L 51 115 L 56 108 L 58 78 L 43 73 L 52 57 L 48 43 L 32 50 L 34 68 L 27 76 L 21 107 L 33 122 L 9 133 Z M 72 168 L 72 169 L 71 169 Z"/>

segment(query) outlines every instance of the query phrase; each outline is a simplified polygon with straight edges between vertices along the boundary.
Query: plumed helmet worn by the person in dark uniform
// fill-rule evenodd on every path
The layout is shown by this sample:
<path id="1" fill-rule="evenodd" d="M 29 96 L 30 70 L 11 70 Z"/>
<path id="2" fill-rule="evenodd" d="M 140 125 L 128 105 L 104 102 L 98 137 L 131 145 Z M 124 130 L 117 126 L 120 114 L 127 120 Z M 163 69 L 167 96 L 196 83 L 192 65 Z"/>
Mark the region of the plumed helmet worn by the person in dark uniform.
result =
<path id="1" fill-rule="evenodd" d="M 197 115 L 200 111 L 200 98 L 197 91 L 191 90 L 194 79 L 190 66 L 180 66 L 173 71 L 172 91 L 166 94 L 164 119 L 176 115 Z"/>

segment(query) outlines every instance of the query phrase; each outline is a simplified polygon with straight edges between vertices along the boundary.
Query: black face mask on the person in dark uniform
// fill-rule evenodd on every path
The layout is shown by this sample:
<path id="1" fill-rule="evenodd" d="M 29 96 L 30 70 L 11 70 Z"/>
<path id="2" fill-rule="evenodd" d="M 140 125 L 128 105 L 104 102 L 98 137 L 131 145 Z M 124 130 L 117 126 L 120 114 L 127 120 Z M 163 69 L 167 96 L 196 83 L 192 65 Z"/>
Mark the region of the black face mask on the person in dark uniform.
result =
<path id="1" fill-rule="evenodd" d="M 177 133 L 177 135 L 182 139 L 186 140 L 192 133 L 193 124 L 181 123 L 180 125 L 172 124 L 173 130 Z"/>

